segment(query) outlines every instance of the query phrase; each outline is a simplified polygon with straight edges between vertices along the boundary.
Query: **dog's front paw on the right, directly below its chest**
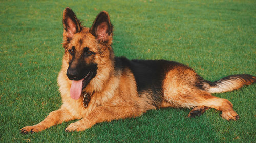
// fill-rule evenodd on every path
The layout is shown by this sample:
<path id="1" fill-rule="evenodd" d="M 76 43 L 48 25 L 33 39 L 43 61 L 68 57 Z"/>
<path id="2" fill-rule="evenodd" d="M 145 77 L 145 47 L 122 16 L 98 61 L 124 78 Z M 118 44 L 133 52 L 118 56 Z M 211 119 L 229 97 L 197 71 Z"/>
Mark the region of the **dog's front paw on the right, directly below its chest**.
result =
<path id="1" fill-rule="evenodd" d="M 71 123 L 66 129 L 66 132 L 72 132 L 72 131 L 84 131 L 91 126 L 88 124 L 88 122 L 84 120 L 77 121 L 75 123 Z"/>

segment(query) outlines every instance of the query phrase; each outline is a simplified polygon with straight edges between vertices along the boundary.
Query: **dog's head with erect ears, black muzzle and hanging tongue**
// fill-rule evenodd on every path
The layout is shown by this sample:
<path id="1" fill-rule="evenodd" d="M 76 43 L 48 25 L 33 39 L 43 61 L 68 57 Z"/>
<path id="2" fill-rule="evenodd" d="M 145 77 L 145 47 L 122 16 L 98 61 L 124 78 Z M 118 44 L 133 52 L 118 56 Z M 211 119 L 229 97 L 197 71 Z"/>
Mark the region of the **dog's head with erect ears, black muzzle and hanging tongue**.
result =
<path id="1" fill-rule="evenodd" d="M 91 28 L 84 27 L 75 13 L 66 8 L 63 12 L 63 47 L 68 64 L 67 77 L 72 80 L 70 94 L 73 99 L 96 76 L 100 65 L 112 55 L 112 31 L 109 14 L 102 11 Z"/>

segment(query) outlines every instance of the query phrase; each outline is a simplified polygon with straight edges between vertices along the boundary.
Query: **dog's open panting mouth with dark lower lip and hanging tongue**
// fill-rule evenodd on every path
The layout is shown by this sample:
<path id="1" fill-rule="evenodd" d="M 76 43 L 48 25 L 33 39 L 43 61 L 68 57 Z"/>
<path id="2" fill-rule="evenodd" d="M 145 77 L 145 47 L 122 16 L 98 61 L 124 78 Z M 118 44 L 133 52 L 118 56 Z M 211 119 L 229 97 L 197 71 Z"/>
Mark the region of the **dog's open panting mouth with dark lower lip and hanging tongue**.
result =
<path id="1" fill-rule="evenodd" d="M 72 80 L 72 84 L 70 88 L 70 96 L 72 99 L 75 99 L 75 100 L 79 99 L 79 97 L 81 96 L 82 90 L 86 88 L 86 86 L 89 84 L 93 76 L 94 76 L 94 72 L 89 71 L 86 74 L 86 76 L 84 76 L 84 78 L 82 78 L 81 80 L 78 80 L 78 81 Z"/>

